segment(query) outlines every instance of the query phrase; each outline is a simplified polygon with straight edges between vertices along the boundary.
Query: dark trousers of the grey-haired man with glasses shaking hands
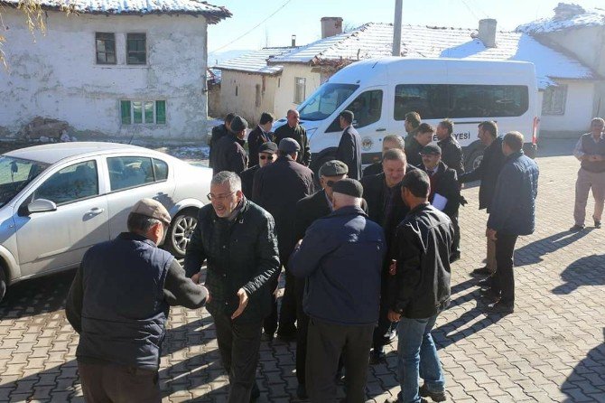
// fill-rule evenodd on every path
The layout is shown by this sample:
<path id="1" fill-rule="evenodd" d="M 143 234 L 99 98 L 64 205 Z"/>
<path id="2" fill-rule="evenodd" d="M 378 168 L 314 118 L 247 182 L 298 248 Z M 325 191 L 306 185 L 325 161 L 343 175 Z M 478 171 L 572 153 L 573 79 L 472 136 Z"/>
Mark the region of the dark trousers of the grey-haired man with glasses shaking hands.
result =
<path id="1" fill-rule="evenodd" d="M 256 382 L 262 322 L 233 323 L 226 314 L 213 314 L 220 360 L 229 376 L 228 403 L 249 403 Z"/>

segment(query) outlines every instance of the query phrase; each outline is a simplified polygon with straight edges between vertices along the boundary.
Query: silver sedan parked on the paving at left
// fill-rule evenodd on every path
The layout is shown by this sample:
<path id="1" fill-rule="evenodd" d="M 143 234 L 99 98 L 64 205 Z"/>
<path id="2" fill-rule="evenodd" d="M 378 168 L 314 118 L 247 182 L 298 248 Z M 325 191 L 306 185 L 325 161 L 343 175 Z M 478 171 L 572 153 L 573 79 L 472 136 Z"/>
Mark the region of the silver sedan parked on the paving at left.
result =
<path id="1" fill-rule="evenodd" d="M 136 201 L 171 213 L 164 248 L 181 258 L 212 171 L 135 145 L 61 143 L 0 155 L 0 299 L 6 286 L 77 267 L 126 230 Z"/>

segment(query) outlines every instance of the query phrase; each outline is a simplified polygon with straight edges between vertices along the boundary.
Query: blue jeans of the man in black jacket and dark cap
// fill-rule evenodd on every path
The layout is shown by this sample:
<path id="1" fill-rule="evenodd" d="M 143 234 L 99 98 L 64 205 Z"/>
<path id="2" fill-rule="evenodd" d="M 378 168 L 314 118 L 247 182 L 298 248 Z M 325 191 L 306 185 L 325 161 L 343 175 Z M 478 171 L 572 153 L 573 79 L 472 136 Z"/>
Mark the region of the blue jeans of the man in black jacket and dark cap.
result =
<path id="1" fill-rule="evenodd" d="M 418 375 L 426 388 L 442 392 L 445 388 L 442 364 L 431 336 L 437 315 L 426 319 L 409 319 L 402 316 L 397 324 L 397 372 L 401 392 L 399 402 L 419 403 Z"/>

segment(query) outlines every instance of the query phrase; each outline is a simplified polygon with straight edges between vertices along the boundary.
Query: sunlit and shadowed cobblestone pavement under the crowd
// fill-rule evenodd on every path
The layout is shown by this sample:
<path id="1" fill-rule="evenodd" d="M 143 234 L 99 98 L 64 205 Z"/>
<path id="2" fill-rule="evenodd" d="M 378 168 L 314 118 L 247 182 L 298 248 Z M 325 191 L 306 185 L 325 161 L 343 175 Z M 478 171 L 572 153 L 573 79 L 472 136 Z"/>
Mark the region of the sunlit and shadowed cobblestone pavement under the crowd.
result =
<path id="1" fill-rule="evenodd" d="M 453 304 L 433 332 L 450 401 L 605 402 L 605 230 L 567 231 L 577 162 L 571 156 L 538 162 L 538 226 L 517 243 L 515 314 L 486 315 L 478 302 L 470 271 L 483 266 L 487 215 L 477 210 L 478 188 L 464 191 L 470 203 L 461 209 L 463 258 L 452 267 Z M 72 276 L 16 285 L 0 305 L 0 401 L 82 401 L 78 335 L 63 312 Z M 164 401 L 226 401 L 209 314 L 172 309 L 169 328 L 160 371 Z M 262 344 L 258 401 L 296 400 L 294 349 L 294 343 Z M 368 399 L 382 402 L 398 389 L 391 347 L 386 363 L 369 370 Z"/>

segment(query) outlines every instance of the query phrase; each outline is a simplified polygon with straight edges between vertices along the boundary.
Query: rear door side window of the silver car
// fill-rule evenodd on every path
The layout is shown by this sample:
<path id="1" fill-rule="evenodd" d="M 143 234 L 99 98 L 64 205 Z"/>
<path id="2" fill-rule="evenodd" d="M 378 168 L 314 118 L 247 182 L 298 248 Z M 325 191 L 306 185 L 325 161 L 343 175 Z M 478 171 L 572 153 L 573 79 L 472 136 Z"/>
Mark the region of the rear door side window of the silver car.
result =
<path id="1" fill-rule="evenodd" d="M 152 159 L 144 156 L 116 156 L 107 158 L 109 183 L 112 191 L 154 182 Z"/>

